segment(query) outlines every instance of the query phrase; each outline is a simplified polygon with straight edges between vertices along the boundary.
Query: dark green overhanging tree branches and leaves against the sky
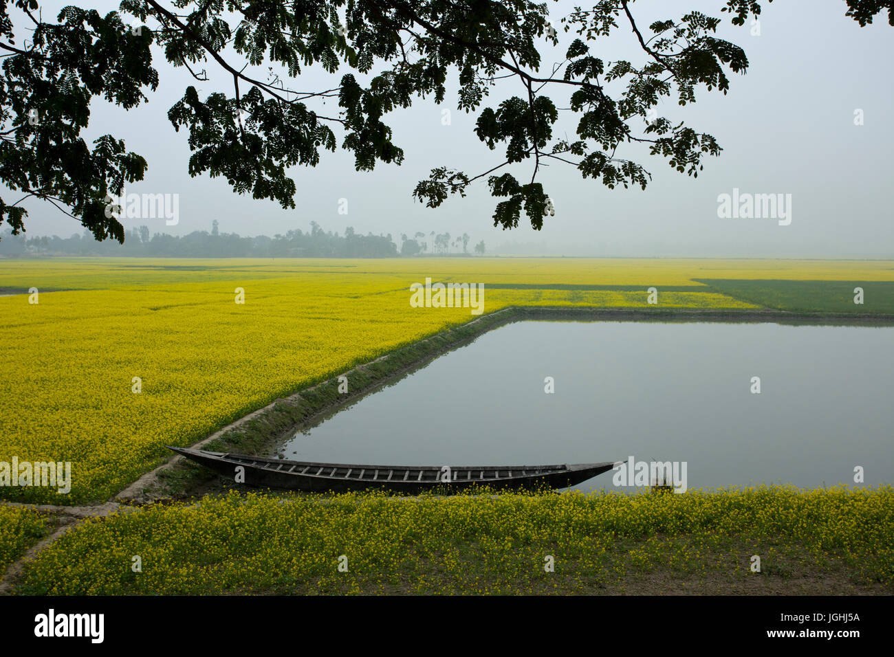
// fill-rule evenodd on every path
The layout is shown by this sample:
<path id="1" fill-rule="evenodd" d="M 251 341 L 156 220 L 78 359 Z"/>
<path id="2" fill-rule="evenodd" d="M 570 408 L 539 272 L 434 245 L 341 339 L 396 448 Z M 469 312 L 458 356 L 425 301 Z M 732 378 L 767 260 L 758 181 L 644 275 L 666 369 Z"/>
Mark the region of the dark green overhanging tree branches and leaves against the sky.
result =
<path id="1" fill-rule="evenodd" d="M 232 80 L 230 91 L 206 97 L 190 85 L 168 111 L 173 129 L 187 135 L 190 175 L 222 176 L 234 191 L 284 208 L 295 206 L 291 168 L 316 166 L 321 151 L 341 145 L 358 171 L 401 164 L 388 114 L 417 98 L 443 102 L 450 72 L 458 72 L 460 109 L 477 112 L 478 139 L 503 161 L 475 175 L 434 168 L 413 190 L 426 206 L 464 196 L 486 178 L 497 199 L 494 225 L 515 227 L 524 211 L 539 229 L 554 213 L 536 181 L 541 167 L 569 164 L 611 189 L 645 189 L 650 174 L 622 152 L 637 143 L 697 176 L 721 147 L 655 108 L 662 98 L 688 105 L 700 90 L 725 94 L 730 73 L 747 69 L 744 51 L 717 38 L 721 19 L 704 13 L 646 28 L 635 19 L 634 0 L 594 2 L 553 26 L 547 4 L 528 0 L 122 0 L 117 12 L 67 6 L 55 20 L 38 0 L 0 0 L 0 182 L 23 195 L 0 198 L 0 223 L 18 234 L 27 215 L 21 202 L 38 198 L 79 219 L 97 240 L 124 240 L 107 211 L 110 198 L 125 182 L 142 180 L 148 164 L 122 139 L 103 135 L 89 144 L 81 131 L 94 97 L 125 111 L 146 102 L 158 86 L 159 55 L 196 80 L 209 80 L 209 69 Z M 894 24 L 890 0 L 846 3 L 860 25 L 886 8 Z M 761 6 L 728 0 L 721 12 L 741 25 Z M 544 39 L 558 44 L 558 29 L 576 38 L 545 74 L 540 47 Z M 636 39 L 642 62 L 606 60 L 594 47 L 614 30 Z M 291 87 L 312 66 L 333 75 L 332 88 Z M 268 74 L 253 73 L 259 67 Z M 519 95 L 485 106 L 497 80 L 514 81 Z M 609 86 L 618 90 L 613 96 Z M 324 111 L 328 98 L 337 112 Z M 553 134 L 561 112 L 577 118 L 574 139 Z M 529 180 L 495 173 L 522 163 L 530 165 Z"/>

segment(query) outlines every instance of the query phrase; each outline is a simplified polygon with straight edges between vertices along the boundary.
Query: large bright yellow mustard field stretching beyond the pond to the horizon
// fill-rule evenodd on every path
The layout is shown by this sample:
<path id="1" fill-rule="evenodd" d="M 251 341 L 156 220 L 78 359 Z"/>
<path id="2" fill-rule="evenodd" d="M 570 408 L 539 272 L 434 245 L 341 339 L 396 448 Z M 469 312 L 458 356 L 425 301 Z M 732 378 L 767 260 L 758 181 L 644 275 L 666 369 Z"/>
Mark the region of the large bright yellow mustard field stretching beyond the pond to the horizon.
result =
<path id="1" fill-rule="evenodd" d="M 483 283 L 507 306 L 729 308 L 698 280 L 894 282 L 888 262 L 395 258 L 0 260 L 0 462 L 71 462 L 69 493 L 104 501 L 250 411 L 475 318 L 410 307 L 409 286 Z M 697 279 L 697 280 L 696 280 Z M 849 284 L 849 283 L 848 283 Z M 647 302 L 648 289 L 657 304 Z M 36 295 L 30 292 L 36 289 Z M 239 301 L 242 302 L 239 302 Z M 2 477 L 2 473 L 0 473 Z"/>

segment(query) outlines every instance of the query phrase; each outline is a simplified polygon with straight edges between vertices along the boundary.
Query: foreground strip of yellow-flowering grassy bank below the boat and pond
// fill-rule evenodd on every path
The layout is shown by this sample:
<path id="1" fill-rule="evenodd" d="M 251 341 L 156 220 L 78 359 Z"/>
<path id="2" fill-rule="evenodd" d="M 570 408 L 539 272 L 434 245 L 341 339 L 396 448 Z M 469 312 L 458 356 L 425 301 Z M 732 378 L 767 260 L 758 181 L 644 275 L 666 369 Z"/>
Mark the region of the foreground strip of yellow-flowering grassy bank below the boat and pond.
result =
<path id="1" fill-rule="evenodd" d="M 753 556 L 761 559 L 753 572 Z M 139 556 L 142 571 L 131 568 Z M 550 559 L 554 569 L 544 569 Z M 347 570 L 340 570 L 340 563 Z M 330 498 L 89 520 L 19 594 L 891 593 L 894 488 Z"/>

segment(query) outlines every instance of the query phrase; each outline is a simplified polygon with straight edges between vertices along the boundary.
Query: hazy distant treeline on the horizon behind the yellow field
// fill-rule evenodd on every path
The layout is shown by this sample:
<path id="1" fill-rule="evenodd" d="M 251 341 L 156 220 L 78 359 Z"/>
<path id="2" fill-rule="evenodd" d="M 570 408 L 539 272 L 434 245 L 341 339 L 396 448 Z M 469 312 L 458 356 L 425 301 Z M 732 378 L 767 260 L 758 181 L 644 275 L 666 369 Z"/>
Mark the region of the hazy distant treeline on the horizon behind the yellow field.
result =
<path id="1" fill-rule="evenodd" d="M 310 223 L 310 231 L 289 231 L 284 235 L 267 237 L 240 237 L 236 233 L 221 233 L 217 221 L 211 232 L 195 231 L 177 237 L 166 233 L 151 235 L 147 226 L 131 229 L 125 233 L 124 243 L 114 240 L 99 242 L 85 231 L 63 239 L 60 237 L 35 237 L 13 235 L 5 232 L 0 239 L 0 256 L 132 256 L 132 257 L 394 257 L 416 256 L 429 251 L 427 237 L 417 232 L 416 239 L 401 235 L 401 248 L 388 235 L 360 235 L 350 226 L 344 235 L 325 232 L 318 223 Z M 468 235 L 462 235 L 453 242 L 450 233 L 431 233 L 433 253 L 450 253 L 451 244 L 460 253 L 467 253 Z M 461 250 L 460 250 L 461 248 Z M 485 243 L 475 247 L 478 254 L 484 254 Z"/>

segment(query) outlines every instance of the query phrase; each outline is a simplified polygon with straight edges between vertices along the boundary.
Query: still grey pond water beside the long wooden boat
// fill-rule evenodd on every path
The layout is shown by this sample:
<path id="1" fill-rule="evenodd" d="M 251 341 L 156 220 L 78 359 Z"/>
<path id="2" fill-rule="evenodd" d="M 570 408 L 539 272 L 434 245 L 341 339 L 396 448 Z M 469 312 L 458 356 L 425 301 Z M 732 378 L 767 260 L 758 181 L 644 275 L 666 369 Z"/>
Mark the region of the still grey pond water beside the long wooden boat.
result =
<path id="1" fill-rule="evenodd" d="M 546 377 L 555 392 L 544 392 Z M 689 489 L 854 484 L 860 466 L 864 484 L 878 485 L 894 480 L 892 391 L 891 327 L 520 322 L 367 395 L 280 453 L 439 466 L 633 456 L 685 462 Z M 612 478 L 577 488 L 618 490 Z"/>

